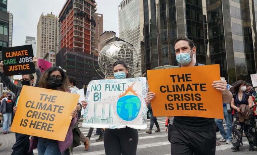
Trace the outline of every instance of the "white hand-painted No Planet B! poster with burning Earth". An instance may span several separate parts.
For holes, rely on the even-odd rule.
[[[84,127],[146,129],[146,78],[93,80],[89,83]]]

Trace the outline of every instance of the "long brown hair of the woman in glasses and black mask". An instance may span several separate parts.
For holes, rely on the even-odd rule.
[[[58,90],[58,91],[69,91],[69,79],[67,74],[60,68],[58,67],[51,67],[49,69],[47,69],[42,76],[39,79],[39,87],[40,88],[46,88],[46,89],[50,89],[50,82],[48,82],[48,77],[49,75],[54,72],[54,71],[59,71],[62,75],[62,85],[59,87],[56,87],[54,90]]]

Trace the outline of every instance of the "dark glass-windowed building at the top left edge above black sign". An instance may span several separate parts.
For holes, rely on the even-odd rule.
[[[2,48],[8,47],[9,14],[7,13],[7,0],[0,1],[0,60],[2,60]]]

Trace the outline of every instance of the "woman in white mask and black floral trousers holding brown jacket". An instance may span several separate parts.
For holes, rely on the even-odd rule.
[[[252,94],[246,91],[245,84],[245,81],[239,80],[236,82],[236,85],[231,88],[233,92],[231,107],[235,109],[232,126],[233,147],[231,149],[236,151],[240,151],[239,147],[243,145],[243,129],[249,142],[249,151],[254,151],[254,146],[256,146],[256,133],[254,130],[254,120],[252,119],[253,98]]]

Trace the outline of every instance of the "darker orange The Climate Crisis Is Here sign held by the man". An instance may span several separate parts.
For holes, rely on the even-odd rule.
[[[155,116],[196,116],[223,119],[219,64],[147,71]]]

